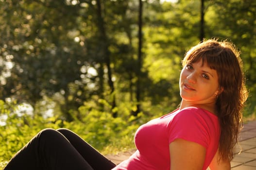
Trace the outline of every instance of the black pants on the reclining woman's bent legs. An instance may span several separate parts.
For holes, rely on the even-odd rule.
[[[4,170],[111,170],[115,166],[72,131],[44,129]]]

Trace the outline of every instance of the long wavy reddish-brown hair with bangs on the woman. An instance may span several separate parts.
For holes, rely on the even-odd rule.
[[[200,59],[203,64],[206,63],[217,71],[218,82],[223,89],[216,100],[221,126],[219,158],[232,160],[238,134],[242,128],[242,109],[248,97],[240,51],[227,40],[204,40],[186,53],[182,65],[184,67]]]

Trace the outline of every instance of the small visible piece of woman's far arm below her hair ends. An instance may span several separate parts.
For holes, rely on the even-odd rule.
[[[210,163],[210,170],[230,170],[230,160],[218,160],[219,158],[219,151],[216,152],[215,156],[213,157]]]

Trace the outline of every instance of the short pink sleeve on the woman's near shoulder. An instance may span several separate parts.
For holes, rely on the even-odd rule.
[[[168,124],[169,143],[180,138],[207,148],[209,129],[202,114],[205,112],[199,108],[185,108],[176,114]]]

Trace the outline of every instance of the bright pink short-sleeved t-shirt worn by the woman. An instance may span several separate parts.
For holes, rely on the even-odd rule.
[[[135,134],[137,151],[113,170],[170,170],[169,144],[177,138],[206,148],[205,170],[219,145],[218,117],[205,109],[187,107],[143,124]]]

